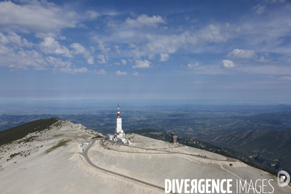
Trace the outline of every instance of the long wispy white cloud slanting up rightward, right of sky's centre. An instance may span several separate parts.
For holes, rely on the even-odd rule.
[[[131,50],[134,59],[140,59],[146,55],[149,59],[153,59],[156,54],[167,53],[171,55],[179,49],[188,50],[192,48],[194,52],[201,52],[198,49],[199,47],[208,43],[226,42],[234,33],[237,33],[234,31],[236,30],[232,26],[226,28],[225,26],[210,24],[200,30],[185,31],[179,34],[145,33],[141,35],[146,40],[146,48],[144,45],[143,47],[137,47],[132,43],[129,44],[129,48],[134,48]],[[134,38],[139,39],[137,36],[134,36]]]

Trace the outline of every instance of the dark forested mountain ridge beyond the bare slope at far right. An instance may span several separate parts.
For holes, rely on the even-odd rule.
[[[291,172],[291,131],[234,131],[212,136],[207,142],[231,148],[268,168]]]

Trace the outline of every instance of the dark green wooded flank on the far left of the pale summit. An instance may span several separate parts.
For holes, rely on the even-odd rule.
[[[2,130],[0,131],[0,146],[22,139],[29,133],[49,129],[49,127],[57,121],[59,121],[58,118],[52,117],[50,119],[40,119],[14,128]]]

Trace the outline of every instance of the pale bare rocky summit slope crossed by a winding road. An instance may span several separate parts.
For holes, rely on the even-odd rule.
[[[105,140],[102,145],[100,136],[102,134],[91,129],[83,126],[79,129],[77,124],[58,120],[47,129],[0,146],[0,193],[164,193],[134,178],[159,187],[164,187],[165,179],[230,178],[233,193],[236,193],[237,179],[274,179],[275,194],[291,193],[289,186],[278,187],[274,175],[206,150],[172,145],[137,134],[126,137],[132,139],[132,146]],[[26,141],[28,139],[30,141]],[[82,147],[84,141],[90,147]],[[101,170],[80,154],[83,148],[89,160]],[[265,186],[264,192],[272,192],[272,187]]]

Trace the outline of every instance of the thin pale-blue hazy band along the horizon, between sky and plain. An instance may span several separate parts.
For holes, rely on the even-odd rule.
[[[222,105],[222,106],[276,106],[291,105],[291,101],[251,101],[251,100],[216,100],[216,99],[5,99],[4,106],[105,106],[105,105],[146,105],[146,106],[180,106],[180,105]]]

